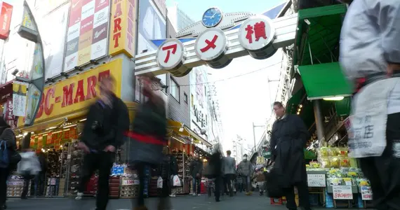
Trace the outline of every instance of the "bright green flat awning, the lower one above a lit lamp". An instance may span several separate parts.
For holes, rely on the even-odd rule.
[[[352,95],[352,87],[338,62],[298,66],[298,71],[309,100]]]

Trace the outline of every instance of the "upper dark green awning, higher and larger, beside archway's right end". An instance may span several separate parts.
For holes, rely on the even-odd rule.
[[[340,30],[346,11],[345,4],[298,11],[294,65],[338,62]]]

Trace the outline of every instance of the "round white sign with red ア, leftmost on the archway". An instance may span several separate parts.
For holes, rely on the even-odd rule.
[[[178,39],[164,41],[157,51],[157,63],[166,70],[175,69],[185,61],[185,48]]]

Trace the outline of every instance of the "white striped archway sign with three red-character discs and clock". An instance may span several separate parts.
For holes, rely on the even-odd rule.
[[[218,8],[206,10],[201,21],[182,29],[158,50],[135,57],[135,75],[171,73],[185,76],[192,68],[207,64],[214,69],[227,66],[232,59],[250,55],[267,59],[278,48],[294,43],[298,15],[270,20],[251,13],[223,14]],[[237,29],[232,29],[241,25]]]

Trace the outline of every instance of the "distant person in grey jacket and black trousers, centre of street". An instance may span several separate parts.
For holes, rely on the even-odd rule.
[[[234,177],[236,174],[236,161],[231,157],[231,151],[227,151],[227,157],[222,158],[223,165],[222,169],[224,172],[224,191],[225,193],[229,193],[229,196],[232,197],[234,195],[234,190],[232,188],[234,183]],[[227,194],[228,195],[228,194]]]

